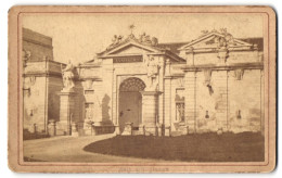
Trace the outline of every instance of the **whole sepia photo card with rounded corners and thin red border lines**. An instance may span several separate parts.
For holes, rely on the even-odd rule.
[[[9,167],[269,173],[270,7],[13,7]]]

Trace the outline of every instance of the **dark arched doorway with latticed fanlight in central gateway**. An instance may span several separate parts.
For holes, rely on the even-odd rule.
[[[138,128],[142,123],[142,96],[140,91],[145,89],[145,84],[137,77],[124,80],[119,86],[118,125],[120,132],[126,123],[132,123]]]

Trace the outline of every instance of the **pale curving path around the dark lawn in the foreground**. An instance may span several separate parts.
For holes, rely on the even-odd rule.
[[[62,136],[24,141],[24,156],[30,160],[47,162],[92,162],[92,163],[153,163],[157,160],[123,157],[89,153],[84,151],[84,147],[94,141],[115,137],[114,134],[88,137]],[[164,161],[162,161],[164,162]]]

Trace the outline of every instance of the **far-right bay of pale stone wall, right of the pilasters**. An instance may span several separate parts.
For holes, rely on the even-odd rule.
[[[262,80],[260,69],[244,71],[243,79],[238,80],[229,77],[229,113],[228,120],[230,130],[239,131],[260,131],[262,114]],[[239,116],[239,111],[240,115]]]

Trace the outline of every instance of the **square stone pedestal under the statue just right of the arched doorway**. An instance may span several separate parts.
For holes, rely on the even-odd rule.
[[[142,91],[142,126],[145,135],[157,135],[158,96],[159,91]]]

